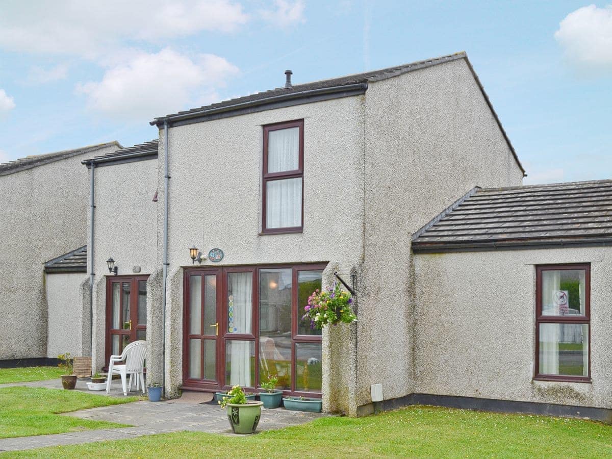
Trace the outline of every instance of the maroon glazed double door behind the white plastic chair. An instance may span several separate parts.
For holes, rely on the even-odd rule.
[[[106,362],[147,338],[147,277],[106,278]]]

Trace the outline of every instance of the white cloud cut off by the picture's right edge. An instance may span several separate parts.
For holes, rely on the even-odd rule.
[[[612,5],[589,5],[569,13],[554,38],[579,67],[612,68]]]

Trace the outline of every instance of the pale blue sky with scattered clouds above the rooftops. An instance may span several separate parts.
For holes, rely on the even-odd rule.
[[[608,0],[610,1],[610,0]],[[466,51],[525,184],[612,178],[612,4],[2,0],[0,163],[156,116]]]

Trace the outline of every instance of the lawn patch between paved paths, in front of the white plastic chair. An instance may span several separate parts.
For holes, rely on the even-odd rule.
[[[112,422],[59,416],[58,413],[136,400],[138,397],[104,397],[77,390],[3,387],[0,389],[0,438],[125,427]]]

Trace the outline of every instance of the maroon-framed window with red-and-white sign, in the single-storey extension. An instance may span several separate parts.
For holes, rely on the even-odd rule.
[[[591,381],[591,266],[537,267],[535,379]]]

